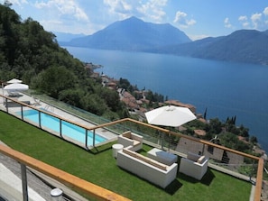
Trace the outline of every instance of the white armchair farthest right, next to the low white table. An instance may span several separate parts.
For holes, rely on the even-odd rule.
[[[179,171],[189,177],[201,180],[208,170],[208,158],[188,152],[187,158],[180,159]]]

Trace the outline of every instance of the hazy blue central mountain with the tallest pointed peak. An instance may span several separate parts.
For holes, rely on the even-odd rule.
[[[60,45],[107,50],[147,50],[189,42],[189,37],[169,23],[145,23],[136,17],[117,21],[86,37]]]

